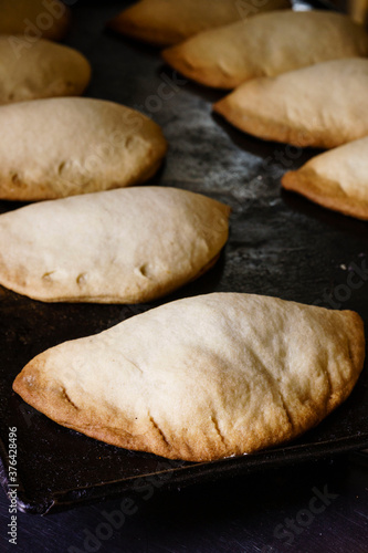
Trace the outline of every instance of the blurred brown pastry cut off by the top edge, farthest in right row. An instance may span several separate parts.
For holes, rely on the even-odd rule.
[[[168,46],[206,29],[256,13],[290,8],[288,0],[140,0],[116,15],[108,27],[126,36]]]

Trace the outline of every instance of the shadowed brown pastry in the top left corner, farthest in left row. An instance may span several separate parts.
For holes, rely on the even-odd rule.
[[[0,0],[0,33],[22,34],[29,48],[38,39],[62,40],[71,22],[71,10],[61,0]]]

